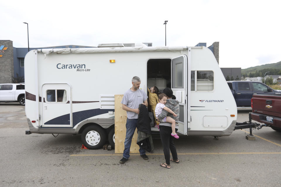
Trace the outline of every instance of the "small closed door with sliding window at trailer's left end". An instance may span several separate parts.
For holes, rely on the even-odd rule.
[[[42,86],[43,127],[72,127],[71,87],[68,84]]]

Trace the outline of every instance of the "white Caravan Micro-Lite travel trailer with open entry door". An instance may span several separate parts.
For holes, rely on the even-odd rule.
[[[87,148],[101,148],[107,140],[114,146],[114,95],[130,89],[134,76],[144,91],[172,88],[180,104],[179,133],[232,133],[236,103],[208,48],[106,46],[28,52],[26,134],[82,134]]]

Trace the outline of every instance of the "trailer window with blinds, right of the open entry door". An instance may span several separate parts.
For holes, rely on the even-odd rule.
[[[213,89],[213,71],[191,71],[191,91],[212,91]]]

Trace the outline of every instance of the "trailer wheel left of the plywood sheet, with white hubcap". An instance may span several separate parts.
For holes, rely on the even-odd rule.
[[[106,134],[101,127],[91,125],[83,130],[81,140],[88,149],[100,149],[105,144]]]

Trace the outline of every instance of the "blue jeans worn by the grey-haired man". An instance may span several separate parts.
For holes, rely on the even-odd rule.
[[[130,157],[130,147],[132,143],[132,138],[135,133],[137,127],[138,119],[128,119],[126,122],[126,138],[124,142],[124,152],[123,157],[128,159]],[[145,150],[143,148],[139,149],[140,155],[145,154]]]

